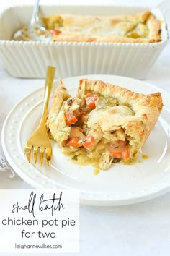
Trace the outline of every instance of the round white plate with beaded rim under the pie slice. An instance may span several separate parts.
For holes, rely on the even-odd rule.
[[[82,76],[104,80],[139,93],[160,91],[146,82],[128,77],[109,75]],[[76,95],[79,79],[64,80],[71,95]],[[169,95],[161,91],[164,104]],[[79,189],[81,202],[89,205],[127,205],[157,197],[170,188],[170,111],[164,107],[161,116],[143,146],[138,161],[126,166],[115,164],[108,171],[94,175],[92,166],[77,166],[64,156],[53,142],[53,161],[50,167],[27,162],[23,148],[37,127],[42,111],[43,88],[28,95],[6,118],[2,130],[2,145],[14,171],[35,188]],[[143,159],[142,154],[148,155]]]

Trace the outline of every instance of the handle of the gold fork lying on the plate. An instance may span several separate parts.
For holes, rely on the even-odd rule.
[[[50,93],[53,87],[53,80],[55,77],[55,67],[48,67],[46,80],[45,80],[45,93],[44,93],[44,103],[42,108],[42,117],[40,121],[40,125],[44,125],[47,121],[48,116],[48,103],[50,100]]]

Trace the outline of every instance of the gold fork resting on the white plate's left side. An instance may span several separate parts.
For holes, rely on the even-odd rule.
[[[37,129],[35,130],[35,132],[33,132],[24,148],[24,154],[27,156],[29,163],[31,158],[31,152],[33,152],[35,163],[37,163],[37,154],[39,153],[40,163],[43,163],[43,158],[45,156],[48,165],[50,164],[52,149],[50,145],[50,139],[48,137],[46,120],[48,115],[48,103],[50,99],[50,92],[53,87],[54,76],[55,67],[48,67],[45,80],[44,103],[42,108],[40,124],[39,127],[37,127]]]

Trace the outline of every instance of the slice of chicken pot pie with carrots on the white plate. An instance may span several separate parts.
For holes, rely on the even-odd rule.
[[[112,163],[130,163],[138,156],[162,107],[161,93],[144,95],[82,79],[76,97],[71,97],[61,81],[48,127],[63,153],[86,155],[106,170]]]

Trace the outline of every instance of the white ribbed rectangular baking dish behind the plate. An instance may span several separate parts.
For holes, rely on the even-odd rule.
[[[116,6],[41,6],[40,15],[89,14],[115,15],[143,12],[143,7]],[[151,12],[162,22],[158,43],[45,43],[11,41],[12,34],[27,25],[31,6],[10,7],[0,17],[0,57],[9,74],[14,77],[45,77],[46,67],[57,67],[56,77],[82,74],[117,74],[145,78],[153,62],[166,46],[168,34],[161,12]]]

